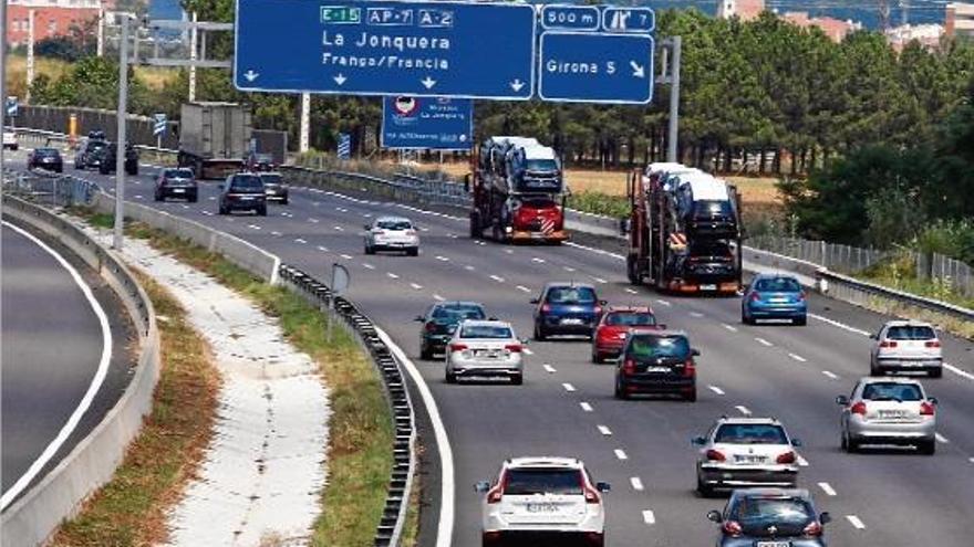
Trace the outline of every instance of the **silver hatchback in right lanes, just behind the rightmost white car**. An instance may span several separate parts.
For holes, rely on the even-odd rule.
[[[936,399],[912,378],[862,378],[842,406],[841,444],[857,452],[863,444],[912,444],[923,454],[936,451]]]

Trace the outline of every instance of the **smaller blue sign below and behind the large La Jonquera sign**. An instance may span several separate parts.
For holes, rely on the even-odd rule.
[[[385,97],[382,102],[383,148],[469,150],[474,102],[446,97]]]

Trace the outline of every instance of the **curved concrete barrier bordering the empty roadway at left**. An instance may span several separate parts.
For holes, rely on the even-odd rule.
[[[139,339],[135,375],[115,406],[56,467],[0,517],[0,543],[4,547],[34,547],[42,545],[89,495],[112,478],[128,443],[142,429],[143,417],[152,411],[153,391],[159,378],[159,335],[152,302],[114,254],[69,220],[25,201],[6,197],[3,214],[46,233],[97,271],[124,303]]]

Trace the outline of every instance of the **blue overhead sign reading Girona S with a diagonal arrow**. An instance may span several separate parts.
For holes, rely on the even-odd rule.
[[[653,98],[653,38],[545,32],[538,95],[552,102],[649,103]]]

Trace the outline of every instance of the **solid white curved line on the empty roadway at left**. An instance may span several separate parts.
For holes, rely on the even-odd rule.
[[[81,401],[79,401],[77,407],[71,412],[71,415],[68,418],[68,421],[64,422],[64,425],[61,427],[61,430],[58,431],[58,435],[48,443],[44,448],[44,451],[41,452],[41,455],[34,460],[23,475],[17,480],[7,492],[0,496],[0,509],[6,509],[7,506],[17,498],[24,488],[30,485],[31,482],[38,476],[38,473],[44,469],[44,466],[54,457],[54,454],[61,450],[62,445],[68,441],[71,434],[74,432],[74,429],[81,422],[82,417],[87,409],[91,407],[92,401],[97,395],[99,390],[102,388],[102,383],[105,381],[105,377],[108,374],[108,366],[112,361],[112,327],[108,325],[108,317],[105,315],[105,311],[102,308],[102,305],[99,303],[97,298],[95,298],[94,294],[91,291],[91,287],[85,284],[84,278],[77,273],[77,270],[71,265],[63,256],[58,254],[50,245],[44,243],[43,241],[35,238],[33,234],[25,232],[24,230],[9,223],[3,222],[6,228],[9,228],[17,233],[23,235],[24,238],[31,240],[34,244],[43,249],[48,254],[54,257],[61,267],[68,271],[71,278],[74,280],[74,283],[81,290],[82,294],[84,294],[85,299],[87,299],[89,305],[94,312],[95,316],[99,319],[99,326],[102,328],[102,355],[99,358],[99,368],[95,370],[95,375],[92,377],[91,383],[87,386],[87,390],[82,396]]]

